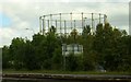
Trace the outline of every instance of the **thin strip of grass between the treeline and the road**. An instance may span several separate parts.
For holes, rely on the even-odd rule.
[[[5,69],[2,70],[2,73],[49,73],[49,74],[124,74],[131,75],[131,72],[118,72],[118,71],[107,71],[107,72],[98,72],[98,71],[58,71],[58,70],[13,70],[13,69]]]

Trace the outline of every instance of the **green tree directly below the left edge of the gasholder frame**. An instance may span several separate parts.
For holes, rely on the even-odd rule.
[[[40,34],[35,34],[33,36],[33,40],[31,42],[33,45],[34,54],[37,59],[37,66],[40,69],[44,69],[44,61],[47,59],[47,42],[46,42],[46,36],[40,35]]]

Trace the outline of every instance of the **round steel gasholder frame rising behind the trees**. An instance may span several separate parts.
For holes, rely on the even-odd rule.
[[[70,34],[72,30],[82,33],[84,26],[90,25],[92,33],[98,23],[105,24],[107,15],[102,13],[58,13],[39,17],[39,33],[45,34],[55,26],[58,34]]]

